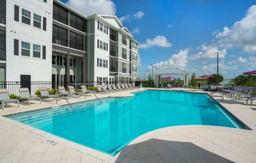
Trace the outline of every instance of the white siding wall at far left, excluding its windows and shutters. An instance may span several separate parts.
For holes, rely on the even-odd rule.
[[[14,21],[14,5],[19,6],[19,22]],[[20,81],[20,74],[31,75],[31,81],[51,81],[52,5],[52,0],[7,0],[6,81]],[[31,25],[21,22],[22,8],[31,12]],[[41,29],[33,27],[33,13],[42,16]],[[47,18],[46,31],[43,17]],[[19,40],[19,56],[14,55],[14,39]],[[21,41],[30,43],[30,57],[21,56]],[[33,57],[33,43],[41,45],[41,58]],[[42,59],[42,45],[46,46],[46,60]]]

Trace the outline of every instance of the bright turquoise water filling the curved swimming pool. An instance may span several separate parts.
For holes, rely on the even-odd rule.
[[[106,98],[9,118],[115,155],[146,132],[176,125],[245,126],[206,94],[142,91],[132,98]]]

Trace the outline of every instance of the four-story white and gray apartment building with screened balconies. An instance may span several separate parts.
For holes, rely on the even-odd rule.
[[[7,2],[0,0],[0,82],[137,80],[139,42],[116,16],[85,16],[59,0]]]

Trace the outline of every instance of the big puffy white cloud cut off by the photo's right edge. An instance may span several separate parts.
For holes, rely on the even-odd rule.
[[[256,55],[256,5],[252,5],[246,16],[230,28],[225,26],[216,38],[222,47],[242,47],[243,51]]]

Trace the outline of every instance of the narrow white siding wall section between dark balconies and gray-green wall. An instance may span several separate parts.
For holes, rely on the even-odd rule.
[[[100,21],[101,22],[101,21]],[[97,40],[101,40],[103,42],[108,43],[108,51],[104,51],[102,49],[97,48]],[[98,30],[98,20],[95,19],[95,42],[94,42],[94,81],[97,81],[97,76],[99,77],[108,77],[109,79],[109,27],[108,34],[103,33]],[[97,58],[101,58],[102,60],[108,60],[108,68],[97,67]]]

